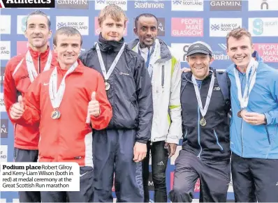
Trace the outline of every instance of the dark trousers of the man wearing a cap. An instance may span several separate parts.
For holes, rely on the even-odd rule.
[[[201,161],[193,153],[181,150],[175,160],[171,202],[192,202],[193,190],[200,179],[199,202],[226,202],[231,181],[231,165],[228,160]]]

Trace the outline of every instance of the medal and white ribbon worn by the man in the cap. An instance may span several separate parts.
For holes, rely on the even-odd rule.
[[[209,87],[209,90],[207,92],[207,98],[205,100],[205,107],[203,107],[203,103],[202,103],[202,99],[200,98],[200,91],[199,91],[199,88],[198,88],[198,84],[196,82],[196,78],[195,78],[194,75],[192,75],[192,82],[193,82],[193,85],[194,85],[194,90],[195,90],[195,93],[196,93],[196,98],[197,98],[197,101],[198,101],[200,114],[202,114],[202,117],[203,117],[199,121],[200,126],[207,125],[207,121],[205,120],[205,114],[207,114],[207,110],[208,110],[208,107],[210,105],[210,98],[212,98],[212,89],[213,89],[213,85],[214,85],[214,80],[215,80],[215,76],[214,76],[214,73],[212,73],[212,78],[210,80],[210,87]]]

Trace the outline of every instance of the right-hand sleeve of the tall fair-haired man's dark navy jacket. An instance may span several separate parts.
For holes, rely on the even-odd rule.
[[[144,59],[138,55],[134,78],[138,102],[139,121],[136,142],[147,143],[151,138],[152,117],[154,114],[152,100],[152,82],[145,67]]]

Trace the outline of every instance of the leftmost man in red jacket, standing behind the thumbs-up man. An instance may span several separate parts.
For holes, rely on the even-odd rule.
[[[3,82],[3,98],[6,111],[17,101],[17,96],[27,91],[31,82],[43,71],[49,70],[56,63],[47,40],[51,37],[50,20],[41,11],[30,13],[26,21],[25,37],[28,39],[28,51],[17,55],[8,61]],[[21,126],[15,123],[15,162],[37,162],[38,160],[38,123],[31,126]],[[19,192],[20,202],[41,202],[40,192]]]

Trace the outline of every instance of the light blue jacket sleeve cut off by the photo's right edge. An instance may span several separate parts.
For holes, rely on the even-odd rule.
[[[277,70],[275,70],[277,71]],[[275,102],[278,104],[278,81],[275,78],[278,77],[278,74],[275,73],[272,75],[272,84],[270,86],[270,95],[274,98]],[[265,112],[265,118],[267,120],[266,125],[276,125],[278,123],[278,106],[269,112]]]

